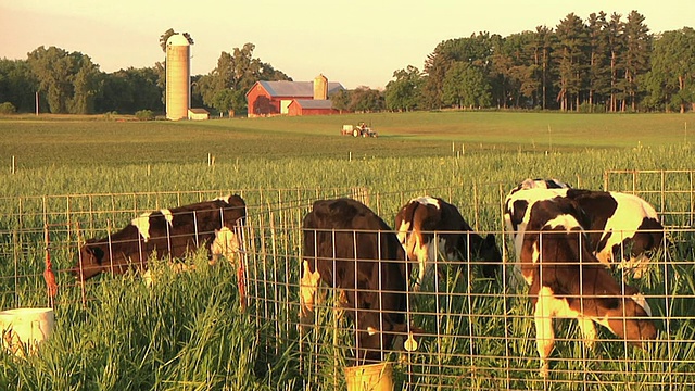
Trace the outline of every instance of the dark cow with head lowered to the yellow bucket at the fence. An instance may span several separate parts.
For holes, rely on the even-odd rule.
[[[341,291],[356,328],[356,358],[378,362],[394,337],[407,335],[406,261],[391,228],[348,198],[319,200],[304,217],[300,320],[313,321],[320,281]]]

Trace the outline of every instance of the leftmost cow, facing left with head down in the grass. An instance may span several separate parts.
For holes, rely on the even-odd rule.
[[[144,270],[155,252],[160,257],[181,257],[208,244],[212,263],[219,255],[231,260],[245,216],[239,195],[143,213],[115,234],[88,240],[71,272],[84,281],[102,272]]]

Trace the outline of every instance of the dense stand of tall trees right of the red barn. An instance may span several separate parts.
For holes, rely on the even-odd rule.
[[[388,110],[693,111],[695,31],[650,34],[637,11],[570,13],[555,29],[442,41],[421,72],[410,65],[393,77]]]

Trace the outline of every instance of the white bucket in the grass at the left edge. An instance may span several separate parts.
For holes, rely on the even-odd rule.
[[[14,308],[0,312],[2,345],[24,355],[33,352],[53,331],[53,308]]]

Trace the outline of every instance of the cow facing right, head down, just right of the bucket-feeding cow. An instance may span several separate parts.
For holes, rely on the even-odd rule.
[[[502,254],[494,235],[482,238],[476,234],[458,209],[441,198],[420,197],[408,201],[396,214],[395,226],[408,260],[419,265],[416,291],[421,288],[438,252],[445,261],[488,262],[482,267],[488,278],[494,277],[501,265]]]

